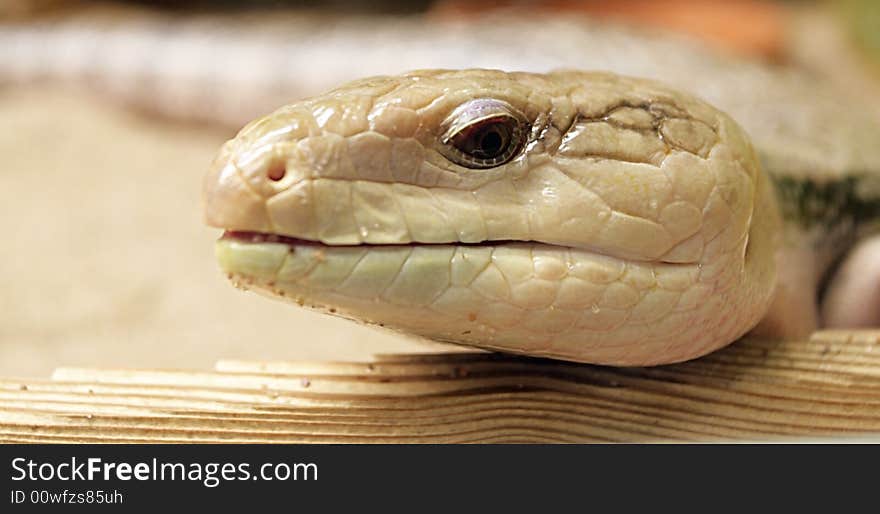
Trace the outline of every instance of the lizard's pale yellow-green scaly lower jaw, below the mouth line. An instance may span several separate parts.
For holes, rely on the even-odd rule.
[[[761,307],[731,305],[736,280],[718,275],[731,266],[540,243],[331,246],[231,232],[216,253],[236,285],[276,299],[433,340],[582,362],[697,357],[742,334]]]

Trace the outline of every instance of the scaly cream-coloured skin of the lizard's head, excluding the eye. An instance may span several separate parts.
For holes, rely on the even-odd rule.
[[[444,120],[477,98],[530,125],[495,168],[439,151]],[[237,283],[435,340],[581,362],[715,350],[764,315],[776,276],[774,198],[743,131],[691,96],[607,73],[353,82],[245,127],[205,202],[209,224],[235,231],[217,254]]]

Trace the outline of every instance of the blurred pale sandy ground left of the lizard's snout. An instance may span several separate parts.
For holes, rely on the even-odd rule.
[[[440,348],[226,281],[200,186],[232,135],[72,90],[0,89],[0,376]]]

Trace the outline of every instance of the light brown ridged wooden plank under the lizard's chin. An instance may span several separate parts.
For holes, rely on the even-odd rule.
[[[221,361],[213,372],[58,369],[0,381],[3,442],[877,440],[880,331],[745,339],[611,368],[492,353]]]

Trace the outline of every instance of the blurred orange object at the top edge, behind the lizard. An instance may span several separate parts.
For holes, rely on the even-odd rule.
[[[432,14],[461,19],[493,10],[583,13],[699,37],[734,52],[779,59],[788,15],[777,2],[759,0],[440,0]]]

